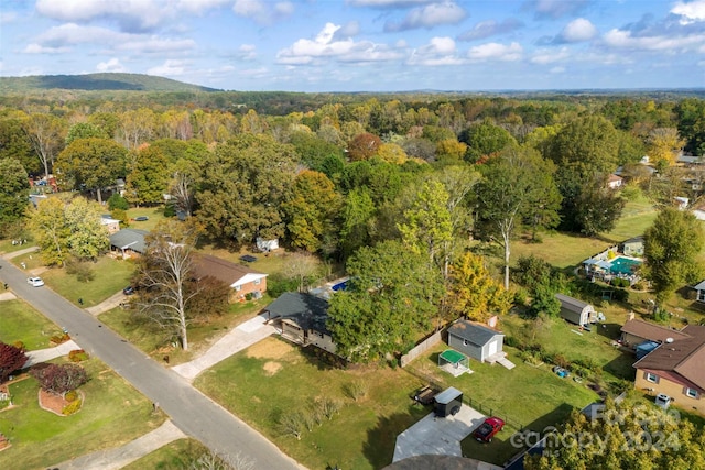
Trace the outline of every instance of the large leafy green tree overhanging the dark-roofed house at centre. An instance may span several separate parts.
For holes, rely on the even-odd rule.
[[[346,267],[350,285],[328,308],[338,353],[352,362],[383,360],[406,352],[431,329],[443,281],[426,255],[389,240],[361,248]]]

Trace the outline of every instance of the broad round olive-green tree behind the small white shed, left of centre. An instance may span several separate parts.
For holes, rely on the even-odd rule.
[[[208,233],[237,244],[283,237],[281,205],[296,175],[291,145],[265,134],[241,134],[219,144],[203,163],[196,217]]]

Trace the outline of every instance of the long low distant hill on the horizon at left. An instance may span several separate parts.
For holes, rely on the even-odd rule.
[[[122,91],[220,91],[143,74],[35,75],[0,77],[0,94],[52,89]]]

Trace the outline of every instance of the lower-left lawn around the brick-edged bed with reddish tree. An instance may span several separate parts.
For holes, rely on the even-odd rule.
[[[95,450],[121,446],[156,428],[164,416],[152,404],[97,359],[82,365],[89,382],[80,387],[84,407],[72,416],[56,416],[40,408],[39,385],[28,378],[10,385],[14,407],[0,413],[0,433],[12,447],[0,452],[0,468],[39,469]]]

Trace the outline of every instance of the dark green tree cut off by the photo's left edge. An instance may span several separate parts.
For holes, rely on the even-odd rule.
[[[0,159],[0,233],[22,219],[29,194],[29,176],[20,161]]]

